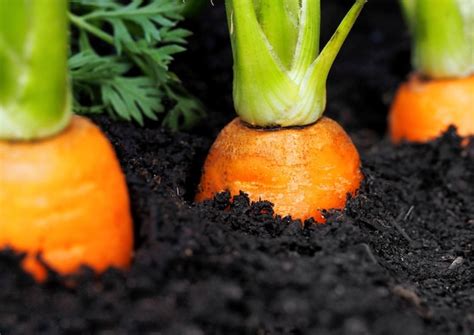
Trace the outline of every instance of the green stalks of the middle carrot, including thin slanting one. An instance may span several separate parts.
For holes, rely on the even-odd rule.
[[[326,107],[326,79],[366,0],[356,0],[319,52],[320,0],[226,0],[234,104],[258,126],[303,126]]]

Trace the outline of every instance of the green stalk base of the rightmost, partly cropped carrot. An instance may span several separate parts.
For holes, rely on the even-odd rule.
[[[472,0],[401,0],[413,39],[414,68],[431,78],[474,73]]]

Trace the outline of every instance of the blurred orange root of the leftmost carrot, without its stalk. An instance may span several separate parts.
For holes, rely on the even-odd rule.
[[[41,141],[0,141],[0,248],[26,252],[23,267],[40,281],[86,264],[126,268],[133,227],[125,178],[112,146],[90,121],[74,117]]]

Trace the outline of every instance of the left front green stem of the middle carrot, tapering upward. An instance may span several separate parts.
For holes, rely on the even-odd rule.
[[[253,0],[226,0],[226,6],[234,53],[237,113],[251,124],[272,124],[291,108],[297,87],[265,37]]]

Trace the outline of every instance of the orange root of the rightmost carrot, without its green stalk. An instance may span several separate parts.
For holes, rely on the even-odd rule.
[[[425,142],[454,125],[461,136],[474,135],[474,76],[403,84],[389,114],[390,137]]]

